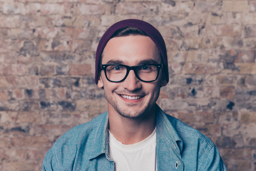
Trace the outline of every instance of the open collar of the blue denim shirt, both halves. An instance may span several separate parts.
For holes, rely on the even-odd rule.
[[[105,130],[105,131],[102,131]],[[160,143],[160,139],[165,145],[168,145],[176,155],[180,156],[182,153],[183,143],[179,135],[177,134],[174,126],[169,122],[165,113],[156,104],[156,131],[157,131],[157,143]],[[161,150],[161,148],[159,148]],[[101,154],[105,154],[106,159],[113,160],[109,156],[109,115],[105,112],[101,115],[100,123],[97,126],[97,131],[94,137],[94,145],[90,153],[89,159],[98,157]]]

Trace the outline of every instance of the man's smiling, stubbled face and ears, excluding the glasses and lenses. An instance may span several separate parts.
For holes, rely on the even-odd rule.
[[[104,48],[101,63],[136,66],[162,62],[158,48],[150,37],[131,35],[110,39]],[[166,85],[162,69],[154,82],[140,81],[133,70],[122,82],[108,81],[103,70],[100,75],[98,87],[104,87],[109,113],[117,112],[128,118],[138,118],[148,112],[158,99],[160,87]],[[129,99],[129,96],[135,96],[135,99]]]

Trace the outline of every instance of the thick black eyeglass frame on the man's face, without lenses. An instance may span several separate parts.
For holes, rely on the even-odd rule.
[[[131,70],[134,71],[136,77],[137,77],[140,81],[142,81],[142,82],[153,82],[153,81],[157,80],[157,78],[158,78],[158,76],[159,76],[159,71],[160,71],[160,69],[163,68],[163,64],[164,64],[164,63],[162,63],[162,64],[158,64],[158,63],[144,63],[144,64],[140,64],[140,65],[137,65],[137,66],[132,66],[132,67],[131,67],[131,66],[125,66],[125,65],[122,65],[122,64],[101,64],[101,65],[100,65],[100,69],[101,69],[101,70],[104,70],[104,73],[105,73],[105,76],[106,76],[106,67],[108,67],[108,66],[122,66],[122,67],[125,67],[125,68],[126,68],[126,75],[125,75],[124,78],[123,78],[122,80],[120,80],[120,81],[111,81],[111,80],[108,78],[108,76],[106,76],[106,79],[107,79],[108,81],[110,81],[110,82],[122,82],[123,80],[125,80],[125,79],[127,78],[127,76],[129,75],[129,72],[130,72]],[[144,81],[144,80],[140,79],[140,77],[139,77],[138,74],[137,74],[137,68],[139,68],[139,67],[141,67],[141,66],[156,66],[156,67],[157,67],[157,77],[156,77],[156,79],[151,80],[151,81]]]

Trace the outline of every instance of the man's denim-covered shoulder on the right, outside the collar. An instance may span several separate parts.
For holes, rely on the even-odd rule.
[[[208,137],[179,119],[165,113],[164,115],[182,140],[185,166],[196,167],[198,170],[226,170],[217,147]]]

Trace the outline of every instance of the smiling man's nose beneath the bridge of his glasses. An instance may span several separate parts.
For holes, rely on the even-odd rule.
[[[123,81],[123,87],[129,91],[135,91],[141,88],[141,82],[133,70],[130,70],[128,76]]]

